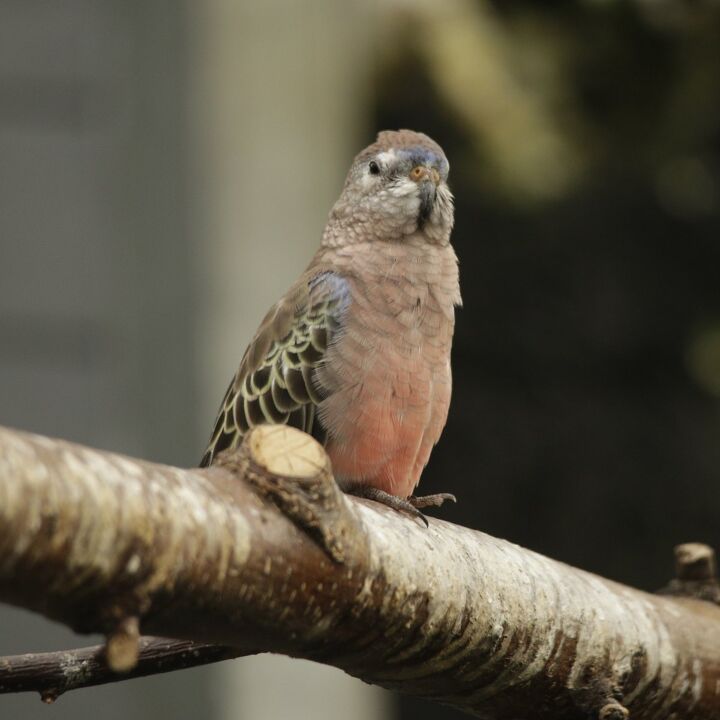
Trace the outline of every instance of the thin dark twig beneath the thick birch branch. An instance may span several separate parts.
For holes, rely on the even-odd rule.
[[[43,702],[51,703],[67,690],[184,670],[248,654],[222,645],[142,637],[137,663],[123,674],[108,666],[104,645],[8,655],[0,657],[0,694],[38,692]]]

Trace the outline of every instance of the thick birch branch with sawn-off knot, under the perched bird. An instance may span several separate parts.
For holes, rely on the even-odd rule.
[[[204,471],[0,431],[0,600],[105,632],[118,667],[139,619],[479,717],[720,717],[720,608],[347,498],[289,428]]]

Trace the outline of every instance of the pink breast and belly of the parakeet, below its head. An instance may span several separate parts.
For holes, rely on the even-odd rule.
[[[328,454],[338,478],[407,497],[447,418],[457,260],[423,237],[335,260],[352,303],[318,372]]]

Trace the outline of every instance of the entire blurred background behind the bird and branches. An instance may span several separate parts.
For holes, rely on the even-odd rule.
[[[653,590],[720,546],[711,0],[0,0],[0,422],[195,464],[383,128],[445,148],[464,308],[422,489]],[[87,644],[0,608],[0,655]],[[450,720],[249,658],[0,716]]]

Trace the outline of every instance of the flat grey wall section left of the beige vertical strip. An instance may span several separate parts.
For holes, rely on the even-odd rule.
[[[188,464],[199,447],[174,7],[0,3],[0,422]],[[0,609],[0,654],[89,640]],[[50,708],[4,696],[0,717],[197,717],[206,677]]]

